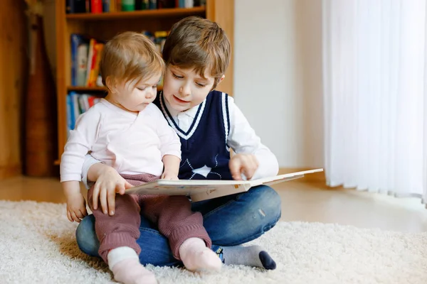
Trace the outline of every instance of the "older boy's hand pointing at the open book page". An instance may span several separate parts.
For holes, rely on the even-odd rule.
[[[258,169],[258,160],[252,154],[236,154],[231,157],[228,167],[234,180],[242,180],[242,174],[251,180]]]

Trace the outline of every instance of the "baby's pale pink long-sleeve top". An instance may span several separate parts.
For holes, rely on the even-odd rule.
[[[105,99],[80,115],[65,144],[60,181],[81,180],[85,155],[118,173],[162,175],[164,155],[181,158],[181,143],[162,112],[149,104],[132,114]]]

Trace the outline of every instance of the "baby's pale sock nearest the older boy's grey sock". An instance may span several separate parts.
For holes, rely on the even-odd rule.
[[[179,246],[179,257],[189,271],[219,271],[222,266],[221,259],[199,238],[186,239]]]

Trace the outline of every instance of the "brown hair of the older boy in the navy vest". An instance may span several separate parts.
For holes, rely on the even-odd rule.
[[[213,89],[226,72],[230,57],[231,45],[223,29],[217,23],[197,16],[175,23],[163,48],[167,65],[194,69],[201,77],[208,68],[215,78]]]

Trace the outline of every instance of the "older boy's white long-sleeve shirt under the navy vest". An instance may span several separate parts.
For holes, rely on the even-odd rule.
[[[192,107],[187,111],[176,111],[168,104],[166,107],[169,114],[172,115],[175,123],[183,131],[188,131],[193,123],[197,109],[199,106]],[[230,146],[235,153],[253,154],[258,160],[259,166],[252,177],[252,180],[258,178],[267,178],[278,174],[279,166],[278,160],[270,149],[263,145],[260,137],[256,135],[255,131],[249,124],[242,111],[234,103],[234,99],[228,96],[228,111],[230,115],[230,132],[228,133],[228,146]],[[203,127],[199,125],[199,127]],[[91,165],[99,163],[99,160],[94,159],[90,155],[86,157],[85,164],[83,165],[83,182],[88,187],[88,170]]]

